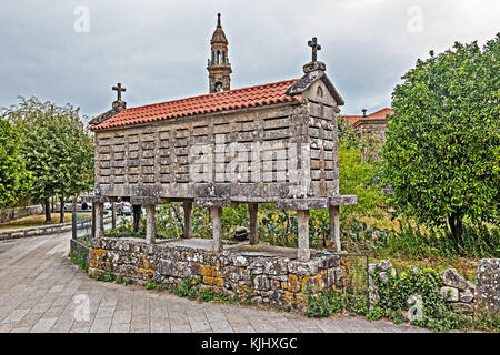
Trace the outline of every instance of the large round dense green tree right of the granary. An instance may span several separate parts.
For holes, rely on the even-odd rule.
[[[382,148],[391,202],[420,222],[448,224],[456,241],[466,216],[498,220],[499,39],[431,52],[392,93]]]

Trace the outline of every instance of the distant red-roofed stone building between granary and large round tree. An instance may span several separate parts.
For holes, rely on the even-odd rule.
[[[378,152],[386,141],[386,131],[388,118],[394,112],[390,108],[379,110],[367,115],[367,110],[362,110],[362,115],[344,115],[343,119],[349,122],[358,132],[361,140],[366,140],[369,148],[372,149],[378,158]]]

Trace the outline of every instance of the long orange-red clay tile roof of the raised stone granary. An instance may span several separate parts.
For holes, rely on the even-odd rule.
[[[301,98],[287,95],[284,92],[298,79],[279,81],[256,87],[209,93],[199,97],[154,103],[124,109],[120,113],[90,128],[92,131],[124,126],[138,123],[161,121],[233,109],[261,106],[267,104],[291,102]]]

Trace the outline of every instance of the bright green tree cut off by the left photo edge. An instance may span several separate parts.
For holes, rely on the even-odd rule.
[[[12,125],[0,119],[0,207],[8,207],[29,190],[31,176],[20,156],[21,141]]]

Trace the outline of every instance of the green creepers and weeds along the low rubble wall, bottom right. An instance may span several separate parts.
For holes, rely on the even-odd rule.
[[[456,310],[452,303],[447,302],[439,292],[442,286],[441,280],[431,268],[413,270],[413,267],[408,267],[396,277],[389,274],[386,282],[380,278],[380,271],[377,271],[372,281],[378,287],[380,301],[370,305],[368,312],[366,297],[330,290],[308,295],[307,316],[328,317],[339,312],[348,312],[364,315],[369,321],[387,318],[400,324],[407,322],[403,314],[414,305],[414,303],[409,303],[410,297],[418,295],[422,301],[422,313],[421,317],[410,322],[413,325],[434,332],[450,329],[498,332],[500,329],[499,313],[478,308],[473,317],[468,317]]]

